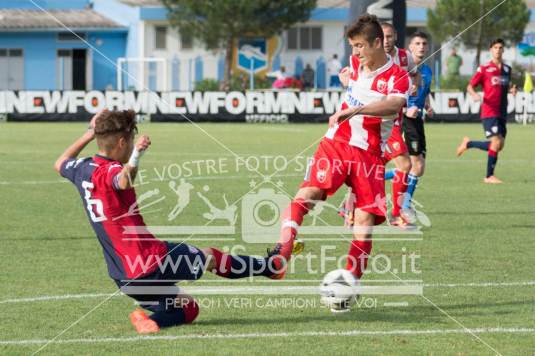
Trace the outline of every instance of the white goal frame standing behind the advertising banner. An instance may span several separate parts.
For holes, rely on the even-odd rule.
[[[120,57],[117,59],[117,90],[167,91],[167,59]]]

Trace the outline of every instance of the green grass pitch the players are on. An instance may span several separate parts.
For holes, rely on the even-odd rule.
[[[100,304],[106,297],[46,300],[32,302],[3,302],[8,299],[57,296],[82,293],[113,293],[116,288],[108,278],[102,251],[87,221],[80,197],[70,184],[62,182],[52,170],[56,157],[77,138],[85,124],[14,124],[0,125],[0,352],[27,354],[42,344],[3,345],[5,340],[48,340]],[[323,125],[201,125],[233,152],[243,156],[294,157],[324,133]],[[420,254],[421,275],[426,284],[526,282],[535,280],[535,157],[532,142],[535,127],[511,124],[508,127],[505,151],[500,153],[496,175],[505,181],[500,186],[482,183],[486,155],[470,150],[462,158],[455,157],[455,148],[463,135],[482,138],[477,124],[428,125],[428,162],[416,200],[432,226],[424,228],[423,241],[376,241],[372,254],[385,254],[399,264],[402,248]],[[141,160],[145,171],[138,196],[158,188],[166,196],[145,214],[149,225],[204,225],[202,214],[208,211],[196,192],[222,207],[222,194],[229,203],[247,193],[250,181],[260,187],[262,178],[255,172],[235,167],[232,154],[192,125],[142,124],[140,132],[151,136],[153,145]],[[311,155],[313,144],[303,155]],[[91,144],[84,151],[92,154]],[[82,154],[83,156],[84,154]],[[196,160],[227,162],[225,172],[213,171],[207,176],[205,168],[194,179],[187,178],[195,188],[191,204],[181,215],[169,222],[167,214],[176,203],[176,196],[168,187],[169,175],[159,181],[163,167]],[[253,161],[250,161],[253,162]],[[294,194],[304,174],[301,163],[292,163],[280,173],[282,189]],[[191,163],[195,171],[196,163]],[[204,166],[203,166],[204,167]],[[154,171],[156,169],[156,171]],[[170,170],[176,176],[177,170]],[[259,167],[261,173],[274,171],[273,162]],[[156,173],[158,172],[158,173]],[[184,172],[183,172],[184,173]],[[175,179],[176,180],[176,179]],[[178,180],[176,180],[178,182]],[[263,187],[273,187],[269,185]],[[204,189],[208,186],[209,189]],[[258,190],[258,189],[257,189]],[[345,192],[345,189],[342,189]],[[390,184],[387,184],[387,191]],[[341,193],[343,193],[341,192]],[[338,205],[342,194],[330,199]],[[240,213],[241,201],[237,203]],[[324,220],[318,224],[340,225],[334,211],[324,210]],[[309,224],[307,217],[305,224]],[[220,225],[228,222],[217,221]],[[246,253],[264,254],[269,244],[245,244],[240,233],[240,219],[233,241],[191,241],[199,247],[220,248],[243,245]],[[391,235],[390,235],[391,236]],[[178,236],[174,236],[175,238]],[[194,236],[199,238],[200,236]],[[202,236],[229,237],[229,236]],[[337,236],[333,236],[337,237]],[[388,238],[389,235],[378,236]],[[163,237],[165,238],[165,237]],[[304,237],[306,241],[306,237]],[[319,254],[322,244],[334,246],[334,255],[347,253],[348,242],[308,241],[305,254]],[[243,253],[243,251],[238,251]],[[332,252],[332,251],[331,251]],[[317,285],[323,274],[310,275],[305,262],[296,263],[295,273],[286,282],[275,285]],[[319,268],[319,262],[313,264]],[[329,261],[326,271],[335,268]],[[217,278],[205,275],[210,280]],[[401,276],[407,278],[407,276]],[[366,275],[364,281],[395,279],[392,274]],[[291,280],[312,280],[311,283]],[[272,286],[273,282],[255,279],[223,283],[245,287]],[[476,328],[535,328],[535,285],[524,286],[429,286],[424,296],[463,326]],[[464,334],[428,335],[306,335],[308,332],[348,332],[392,330],[449,330],[462,329],[452,319],[421,296],[372,296],[374,307],[355,308],[344,315],[332,315],[319,306],[319,296],[304,295],[308,308],[281,308],[276,296],[220,295],[199,296],[205,306],[197,321],[190,326],[170,328],[162,336],[205,335],[209,338],[169,340],[123,340],[102,342],[104,338],[137,337],[128,321],[133,309],[132,300],[119,296],[104,302],[85,319],[74,325],[58,339],[95,339],[101,342],[50,344],[46,354],[131,354],[134,352],[169,353],[359,353],[359,354],[492,354],[493,351],[474,336]],[[295,300],[299,296],[280,296]],[[241,307],[227,303],[241,302]],[[271,298],[271,299],[270,299]],[[261,301],[260,303],[258,301]],[[407,302],[405,307],[387,307],[385,302]],[[210,304],[211,305],[208,305]],[[259,303],[259,304],[258,304]],[[258,307],[262,305],[264,307]],[[271,333],[297,333],[295,336],[274,337]],[[300,334],[301,333],[301,334]],[[305,334],[302,334],[305,333]],[[250,337],[214,338],[215,334],[253,334]],[[254,335],[259,334],[259,335]],[[261,334],[261,335],[260,335]],[[482,333],[479,337],[502,354],[527,354],[535,349],[531,333]],[[105,340],[104,340],[105,341]]]

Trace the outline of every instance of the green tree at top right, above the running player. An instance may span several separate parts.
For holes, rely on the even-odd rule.
[[[438,0],[427,10],[427,26],[434,39],[442,42],[472,26],[503,0]],[[481,50],[495,38],[508,44],[520,42],[529,22],[530,10],[523,0],[507,0],[460,36],[467,48],[476,49],[479,65]]]

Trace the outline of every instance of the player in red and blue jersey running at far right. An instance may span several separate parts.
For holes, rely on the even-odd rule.
[[[501,38],[491,42],[492,59],[477,68],[466,88],[474,101],[481,101],[481,96],[474,87],[483,87],[481,123],[488,140],[472,141],[469,137],[464,137],[457,148],[457,156],[461,156],[469,148],[479,148],[487,152],[487,175],[483,182],[489,184],[502,183],[494,176],[494,169],[498,162],[498,152],[503,149],[507,135],[507,96],[509,93],[516,95],[516,87],[511,85],[511,67],[502,60],[504,46]]]

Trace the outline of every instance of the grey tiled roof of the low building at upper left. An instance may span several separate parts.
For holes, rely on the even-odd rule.
[[[90,9],[30,10],[0,9],[0,30],[30,30],[68,27],[122,28],[120,24]]]

